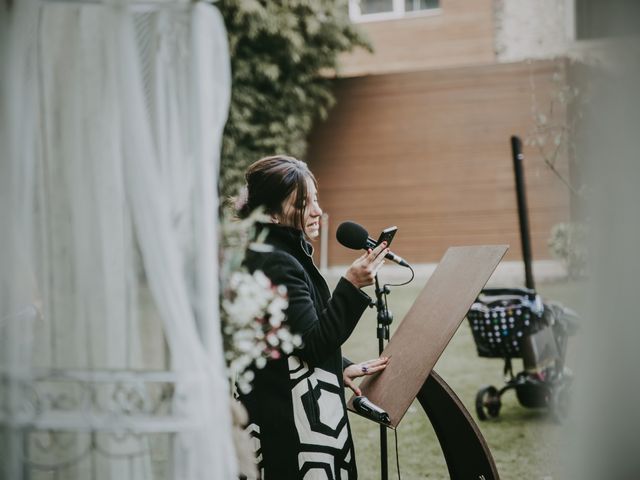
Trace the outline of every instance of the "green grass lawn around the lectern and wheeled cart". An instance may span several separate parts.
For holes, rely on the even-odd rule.
[[[384,280],[384,278],[383,278]],[[395,287],[389,296],[389,308],[394,313],[391,334],[400,324],[414,299],[424,287],[424,281],[414,281],[404,287]],[[579,283],[538,285],[545,300],[555,300],[578,309]],[[373,295],[373,293],[370,293]],[[571,346],[571,345],[570,345]],[[355,332],[343,348],[345,356],[353,361],[375,358],[378,354],[375,310],[368,310]],[[571,355],[568,364],[571,366]],[[562,429],[547,417],[544,411],[522,407],[513,390],[502,397],[498,419],[480,422],[475,413],[475,395],[486,384],[498,388],[504,385],[503,361],[479,358],[465,320],[451,340],[435,370],[453,388],[476,419],[496,462],[503,480],[563,478],[562,465],[556,461],[561,451]],[[514,370],[522,369],[521,360],[514,361]],[[360,478],[380,478],[380,446],[377,424],[358,415],[350,414],[356,444],[356,458]],[[440,444],[420,404],[416,401],[401,421],[397,430],[400,471],[405,480],[448,479],[448,471]],[[395,439],[388,431],[389,478],[397,478]]]

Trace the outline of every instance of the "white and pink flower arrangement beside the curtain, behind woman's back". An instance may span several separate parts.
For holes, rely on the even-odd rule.
[[[302,345],[285,323],[289,302],[284,285],[274,285],[260,270],[250,273],[242,266],[247,233],[255,223],[250,218],[227,224],[220,302],[222,337],[229,375],[242,393],[251,391],[254,369],[277,360]],[[264,250],[266,245],[252,245]]]

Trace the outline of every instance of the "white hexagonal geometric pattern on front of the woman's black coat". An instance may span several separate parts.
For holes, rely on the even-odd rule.
[[[288,360],[289,375],[295,382],[291,396],[302,478],[347,478],[351,442],[339,379],[321,368],[309,368],[295,356]]]

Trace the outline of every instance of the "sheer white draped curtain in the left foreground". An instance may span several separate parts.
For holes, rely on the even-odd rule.
[[[219,12],[22,0],[0,20],[3,473],[234,478]]]

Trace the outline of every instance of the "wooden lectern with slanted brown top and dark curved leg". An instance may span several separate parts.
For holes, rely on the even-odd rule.
[[[499,477],[471,415],[432,370],[507,248],[449,248],[382,353],[393,356],[393,361],[380,375],[366,377],[360,384],[362,395],[389,414],[391,428],[398,426],[417,398],[456,480]],[[355,412],[352,402],[353,397],[348,407]]]

